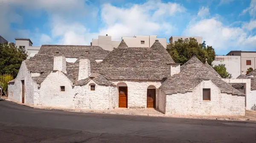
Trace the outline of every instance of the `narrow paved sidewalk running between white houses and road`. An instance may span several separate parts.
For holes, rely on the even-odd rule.
[[[5,98],[6,101],[11,101]],[[12,101],[15,102],[15,101]],[[21,104],[15,102],[17,104]],[[21,104],[24,106],[36,108],[36,109],[47,109],[47,110],[62,110],[68,112],[87,112],[87,113],[98,113],[98,114],[118,114],[118,115],[140,115],[140,116],[151,116],[151,117],[169,117],[169,118],[189,118],[189,119],[206,119],[206,120],[227,120],[227,121],[256,121],[256,111],[246,110],[245,116],[216,116],[216,115],[166,115],[157,109],[127,109],[117,108],[109,110],[89,110],[89,109],[67,109],[67,108],[53,108],[53,107],[34,107],[33,105]]]

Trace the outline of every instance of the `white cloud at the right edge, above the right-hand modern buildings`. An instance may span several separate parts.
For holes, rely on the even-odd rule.
[[[255,24],[255,23],[254,23]],[[255,25],[254,25],[255,26]],[[248,33],[247,29],[253,28],[253,22],[243,28],[225,25],[218,17],[194,19],[183,31],[184,35],[202,36],[207,45],[212,45],[217,52],[221,50],[253,49],[256,45],[256,36]]]

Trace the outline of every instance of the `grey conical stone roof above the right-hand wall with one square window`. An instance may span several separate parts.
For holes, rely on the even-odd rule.
[[[212,73],[196,56],[193,56],[188,62],[181,66],[179,74],[175,74],[166,79],[161,89],[164,93],[169,94],[192,92],[203,80],[211,80],[213,84],[221,90],[221,93],[244,95]]]

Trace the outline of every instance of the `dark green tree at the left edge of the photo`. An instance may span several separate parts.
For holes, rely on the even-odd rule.
[[[0,74],[11,74],[15,78],[26,57],[25,48],[17,48],[14,43],[0,43]]]

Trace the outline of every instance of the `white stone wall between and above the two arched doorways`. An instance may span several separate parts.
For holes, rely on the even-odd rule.
[[[146,108],[148,86],[154,85],[157,90],[161,86],[161,82],[158,80],[111,80],[111,81],[116,85],[120,82],[124,82],[127,85],[128,108]],[[156,95],[156,99],[158,98],[157,96],[158,95]],[[158,103],[156,103],[156,106],[157,104]]]

